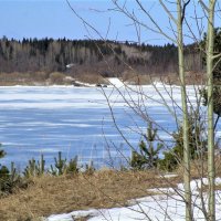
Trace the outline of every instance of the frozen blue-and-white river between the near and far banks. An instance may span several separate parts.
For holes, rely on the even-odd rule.
[[[172,104],[170,94],[162,92],[165,88],[160,85],[158,88],[165,97],[164,102],[179,112]],[[136,87],[133,90],[137,91]],[[194,90],[189,91],[190,99],[194,101]],[[140,106],[140,109],[148,112],[157,124],[169,131],[176,130],[175,120],[156,90],[146,86],[143,92],[148,97],[120,91],[127,101],[130,101],[134,110],[136,106]],[[116,151],[116,148],[128,157],[130,149],[113,124],[103,93],[110,101],[120,130],[136,147],[140,138],[139,133],[145,131],[147,122],[135,115],[112,87],[104,91],[72,86],[0,87],[0,143],[7,151],[7,157],[1,159],[1,164],[9,165],[14,161],[18,167],[23,167],[29,159],[39,159],[43,152],[49,165],[60,150],[67,159],[77,155],[82,164],[93,159],[97,166],[104,164],[104,159],[107,160],[109,155],[120,158],[122,154]],[[179,105],[179,87],[172,90],[172,96]],[[162,138],[168,138],[167,133],[160,129],[159,134]]]

